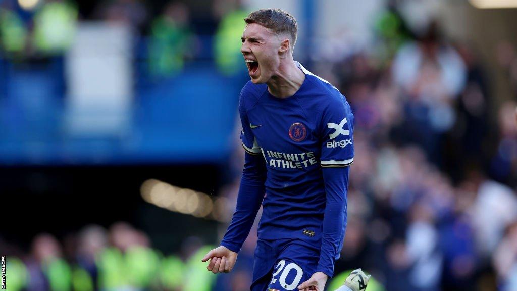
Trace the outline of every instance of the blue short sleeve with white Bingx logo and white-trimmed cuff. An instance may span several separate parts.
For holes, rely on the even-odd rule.
[[[323,111],[321,166],[346,167],[354,162],[354,115],[343,96]]]

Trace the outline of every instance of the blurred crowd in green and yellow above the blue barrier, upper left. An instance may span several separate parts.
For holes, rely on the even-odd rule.
[[[52,63],[66,55],[82,22],[97,22],[129,28],[133,57],[145,77],[173,77],[189,60],[213,59],[226,75],[242,71],[245,66],[237,57],[240,39],[235,35],[241,34],[248,11],[239,0],[205,2],[208,8],[185,1],[2,0],[0,61]]]

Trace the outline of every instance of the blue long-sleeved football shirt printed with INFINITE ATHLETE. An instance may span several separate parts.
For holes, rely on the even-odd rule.
[[[354,115],[336,88],[297,65],[306,78],[291,97],[272,96],[266,84],[251,81],[241,91],[241,140],[247,161],[236,213],[221,244],[240,249],[262,202],[259,239],[321,243],[326,252],[322,264],[333,265],[346,226],[348,168],[326,175],[325,169],[354,161]],[[328,239],[325,215],[331,229]]]

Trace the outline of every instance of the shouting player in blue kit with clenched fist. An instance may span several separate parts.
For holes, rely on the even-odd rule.
[[[251,290],[323,291],[346,226],[354,115],[336,88],[293,60],[294,17],[261,9],[245,21],[245,165],[232,223],[203,261],[230,272],[262,203]]]

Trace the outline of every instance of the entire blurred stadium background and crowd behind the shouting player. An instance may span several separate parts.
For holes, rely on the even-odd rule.
[[[352,105],[348,226],[328,290],[517,290],[512,0],[0,0],[7,290],[248,290],[206,271],[235,208],[244,18]],[[260,215],[259,215],[260,216]]]

